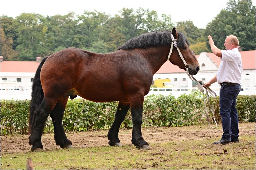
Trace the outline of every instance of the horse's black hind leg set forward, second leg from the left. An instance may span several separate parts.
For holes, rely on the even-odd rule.
[[[64,111],[65,111],[67,102],[68,102],[68,97],[61,98],[56,103],[55,107],[50,113],[50,116],[52,118],[52,123],[54,126],[54,139],[55,139],[56,145],[60,145],[61,148],[73,148],[72,142],[68,140],[62,124],[62,118],[64,116]]]

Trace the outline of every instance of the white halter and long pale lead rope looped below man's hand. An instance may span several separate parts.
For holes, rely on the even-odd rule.
[[[171,53],[172,53],[172,48],[173,48],[173,45],[177,48],[178,52],[179,52],[179,55],[180,55],[180,58],[181,60],[183,61],[183,63],[185,64],[185,67],[186,67],[186,73],[188,74],[188,77],[192,80],[192,81],[196,81],[196,87],[203,93],[203,97],[204,97],[204,83],[202,81],[197,81],[193,75],[190,75],[188,73],[188,68],[189,68],[189,65],[187,64],[187,62],[184,60],[181,52],[180,52],[180,49],[177,47],[177,42],[176,40],[178,39],[174,39],[173,35],[171,34],[171,37],[172,37],[172,45],[171,45],[171,49],[170,49],[170,53],[168,55],[168,58],[167,58],[167,61],[170,60],[170,56],[171,56]],[[193,79],[192,79],[193,78]],[[203,86],[202,86],[202,85]],[[210,124],[210,120],[209,120],[209,117],[208,117],[208,114],[207,114],[207,106],[206,106],[206,102],[205,102],[205,97],[204,97],[204,111],[205,111],[205,115],[206,115],[206,120],[207,120],[207,123],[208,125],[211,127],[211,128],[216,128],[217,127],[217,122],[215,120],[215,117],[214,117],[214,112],[213,112],[213,109],[212,109],[212,106],[211,104],[209,103],[209,94],[208,94],[208,91],[209,93],[213,96],[213,97],[216,97],[216,93],[214,91],[212,91],[212,89],[210,89],[208,86],[205,86],[206,87],[206,96],[207,96],[207,103],[208,105],[210,106],[211,108],[211,111],[212,111],[212,115],[213,115],[213,120],[214,120],[214,123],[215,123],[215,127],[212,127],[211,124]]]

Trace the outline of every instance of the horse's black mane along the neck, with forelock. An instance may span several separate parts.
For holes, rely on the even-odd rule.
[[[171,31],[156,31],[142,34],[138,37],[128,40],[123,46],[117,48],[117,50],[134,49],[134,48],[147,48],[151,46],[168,46],[172,44]],[[178,32],[179,39],[176,41],[178,47],[183,47],[188,43],[188,39],[182,32]]]

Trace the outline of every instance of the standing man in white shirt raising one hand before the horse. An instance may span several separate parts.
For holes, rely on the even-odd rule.
[[[229,35],[225,39],[225,49],[220,50],[214,45],[212,37],[209,35],[209,44],[212,53],[220,57],[220,66],[217,74],[204,86],[211,86],[212,83],[220,84],[220,116],[222,122],[223,135],[214,144],[229,144],[239,142],[238,113],[236,110],[236,96],[238,96],[241,86],[241,74],[243,72],[242,58],[238,51],[239,41],[234,35]],[[204,87],[206,89],[206,87]]]

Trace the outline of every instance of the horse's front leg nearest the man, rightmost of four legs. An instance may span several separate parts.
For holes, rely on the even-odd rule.
[[[142,124],[142,113],[143,113],[143,102],[144,95],[136,95],[130,97],[130,106],[132,113],[132,144],[139,149],[148,149],[149,145],[142,138],[141,124]]]

